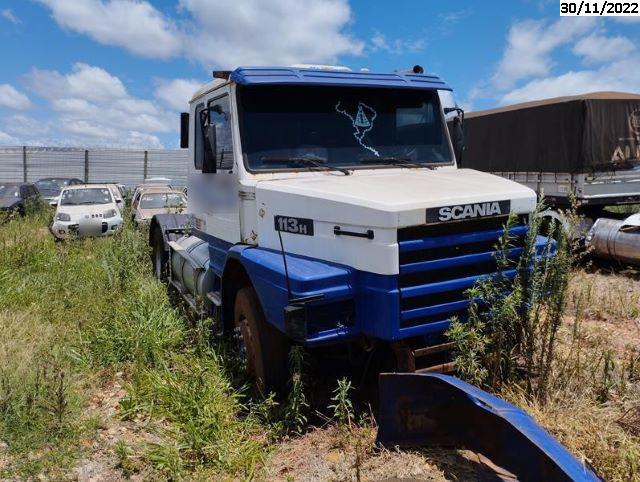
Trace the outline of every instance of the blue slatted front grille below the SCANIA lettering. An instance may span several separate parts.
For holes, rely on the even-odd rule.
[[[453,316],[464,319],[465,292],[497,272],[495,245],[506,223],[507,217],[500,216],[398,230],[400,328],[434,324],[434,331],[440,331]],[[514,261],[527,230],[523,216],[510,231],[514,239],[508,256]],[[504,274],[513,277],[515,269]]]

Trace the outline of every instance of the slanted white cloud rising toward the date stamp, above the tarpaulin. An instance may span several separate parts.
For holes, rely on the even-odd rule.
[[[509,89],[518,80],[547,75],[553,65],[551,53],[590,30],[595,21],[593,17],[563,17],[551,24],[534,20],[514,24],[493,84]]]

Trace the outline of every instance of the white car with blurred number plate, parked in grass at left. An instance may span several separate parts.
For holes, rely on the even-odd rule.
[[[68,186],[62,190],[51,232],[71,236],[109,236],[122,228],[122,214],[107,184]]]

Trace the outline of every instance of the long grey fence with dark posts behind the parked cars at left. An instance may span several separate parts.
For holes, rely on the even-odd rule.
[[[187,184],[186,149],[80,149],[0,146],[0,182],[76,177],[89,183],[135,186],[151,177]]]

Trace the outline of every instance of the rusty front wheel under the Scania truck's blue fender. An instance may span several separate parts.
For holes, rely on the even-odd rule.
[[[235,334],[241,338],[247,375],[263,394],[278,391],[288,380],[289,343],[265,319],[260,300],[251,287],[236,295]]]

